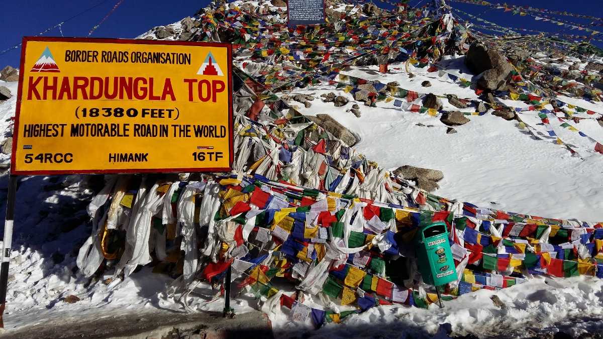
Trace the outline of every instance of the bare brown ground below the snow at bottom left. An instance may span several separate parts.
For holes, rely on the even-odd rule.
[[[134,339],[272,339],[270,320],[255,311],[224,318],[216,312],[184,314],[169,311],[129,312],[102,318],[65,317],[12,329],[0,338],[134,338]]]

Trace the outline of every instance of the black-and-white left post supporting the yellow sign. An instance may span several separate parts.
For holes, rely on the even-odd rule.
[[[10,247],[13,241],[14,198],[17,193],[17,176],[8,176],[8,197],[6,217],[4,221],[4,241],[2,242],[2,264],[0,265],[0,328],[4,328],[4,308],[6,306],[6,289],[8,285],[8,263]]]

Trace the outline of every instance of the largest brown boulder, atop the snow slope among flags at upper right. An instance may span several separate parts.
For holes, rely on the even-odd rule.
[[[465,55],[465,65],[473,74],[482,74],[478,84],[487,89],[496,90],[504,87],[513,66],[504,55],[484,45],[473,43]]]

